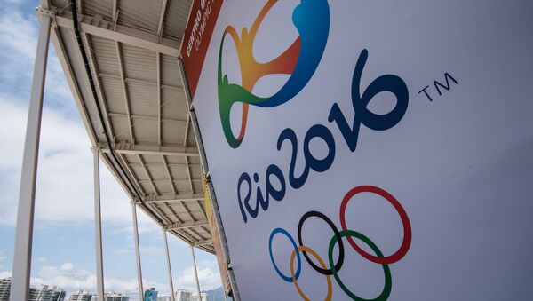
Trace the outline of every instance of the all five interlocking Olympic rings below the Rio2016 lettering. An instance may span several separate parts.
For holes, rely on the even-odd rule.
[[[346,205],[350,200],[356,195],[361,193],[371,193],[371,194],[378,194],[379,196],[386,199],[386,201],[390,202],[394,209],[398,212],[400,215],[400,219],[402,220],[402,226],[403,226],[403,240],[402,245],[398,250],[396,250],[392,255],[384,256],[381,250],[378,249],[378,246],[370,241],[368,237],[365,235],[356,232],[354,230],[347,230],[346,228]],[[304,223],[306,222],[307,218],[320,218],[328,226],[331,227],[333,230],[333,237],[330,240],[329,248],[328,248],[328,264],[330,268],[328,268],[328,265],[324,263],[322,258],[316,253],[315,250],[307,247],[303,240],[302,240],[302,227],[304,226]],[[318,211],[308,211],[306,214],[300,218],[298,222],[298,244],[292,238],[292,236],[287,232],[287,230],[283,228],[275,228],[272,233],[270,234],[270,239],[268,241],[268,251],[270,253],[270,260],[272,261],[272,265],[274,265],[274,270],[278,275],[282,278],[282,280],[294,283],[294,286],[298,290],[298,294],[300,297],[302,297],[304,300],[309,300],[308,297],[304,294],[302,289],[298,285],[298,278],[300,275],[300,272],[302,270],[302,260],[300,257],[300,252],[304,255],[307,264],[311,265],[311,267],[316,271],[317,273],[322,273],[326,276],[326,281],[328,284],[328,292],[325,297],[325,300],[331,300],[333,289],[331,285],[331,279],[330,275],[333,275],[335,278],[335,281],[337,281],[338,286],[345,292],[346,296],[354,299],[354,300],[367,300],[362,297],[358,297],[354,294],[350,289],[346,287],[346,284],[340,279],[338,275],[338,271],[342,268],[344,264],[344,257],[345,257],[345,250],[344,250],[344,243],[343,238],[346,238],[346,241],[350,244],[352,249],[354,249],[359,255],[364,257],[365,259],[369,260],[370,262],[376,263],[378,265],[381,265],[383,267],[383,273],[385,273],[385,286],[383,290],[381,291],[381,294],[379,294],[378,297],[372,299],[375,301],[378,300],[386,300],[390,294],[392,289],[392,276],[391,276],[391,270],[388,265],[394,264],[395,262],[398,262],[401,260],[408,252],[410,248],[410,242],[411,242],[411,227],[410,227],[410,220],[407,216],[407,213],[402,207],[402,204],[394,198],[392,194],[387,193],[385,190],[378,188],[376,186],[357,186],[354,187],[352,190],[348,191],[348,193],[343,198],[342,202],[340,203],[340,210],[339,210],[339,219],[340,219],[340,225],[341,225],[341,231],[338,231],[337,226],[331,221],[330,218],[325,216],[323,213]],[[290,275],[283,274],[278,266],[275,264],[274,256],[272,254],[272,241],[274,239],[275,234],[283,234],[286,236],[290,243],[292,244],[294,250],[292,251],[292,254],[290,255]],[[366,250],[363,250],[357,243],[355,243],[354,238],[358,239],[361,242],[364,242],[370,247],[370,250],[374,252],[375,255],[368,253]],[[333,250],[335,249],[335,245],[338,243],[338,259],[337,263],[334,263],[333,260]],[[316,265],[313,260],[308,256],[310,254],[312,257],[314,257],[319,265]],[[296,272],[294,271],[294,259],[297,258],[298,261],[298,268],[296,269]]]

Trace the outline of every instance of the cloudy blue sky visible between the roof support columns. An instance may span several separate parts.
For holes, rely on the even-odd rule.
[[[20,166],[36,51],[36,1],[0,5],[0,278],[11,275]],[[50,47],[36,187],[32,279],[68,292],[95,290],[92,154],[84,125]],[[101,166],[106,290],[137,286],[131,205]],[[143,281],[168,293],[163,232],[139,210]],[[169,235],[174,288],[195,289],[189,246]],[[196,250],[202,289],[219,287],[216,257]]]

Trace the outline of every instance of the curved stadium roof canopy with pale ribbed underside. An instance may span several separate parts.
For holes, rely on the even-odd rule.
[[[40,5],[91,145],[141,210],[214,253],[178,62],[191,0],[77,0],[77,22],[68,0]]]

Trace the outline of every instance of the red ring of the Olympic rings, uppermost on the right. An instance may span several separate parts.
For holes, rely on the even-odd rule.
[[[340,204],[340,225],[342,226],[343,230],[346,230],[346,205],[348,202],[354,197],[355,194],[360,193],[373,193],[378,194],[385,198],[388,202],[390,202],[396,211],[398,211],[398,214],[400,215],[400,218],[402,219],[402,225],[403,225],[403,241],[402,245],[400,246],[400,249],[396,250],[393,255],[386,256],[386,257],[377,257],[374,255],[371,255],[367,253],[365,250],[362,250],[355,242],[354,239],[350,236],[346,237],[350,245],[354,248],[357,253],[359,253],[362,257],[365,257],[367,260],[370,260],[371,262],[377,263],[377,264],[394,264],[398,260],[402,259],[405,254],[407,254],[407,251],[410,247],[411,242],[411,228],[410,228],[410,221],[407,216],[407,213],[405,210],[403,210],[402,205],[396,198],[394,198],[393,195],[387,193],[385,190],[378,188],[376,186],[357,186],[350,190],[342,200],[342,203]]]

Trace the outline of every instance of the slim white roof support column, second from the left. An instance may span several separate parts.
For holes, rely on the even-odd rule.
[[[104,263],[102,256],[102,211],[100,209],[99,187],[99,149],[93,148],[94,154],[94,239],[96,247],[96,297],[104,301]]]

